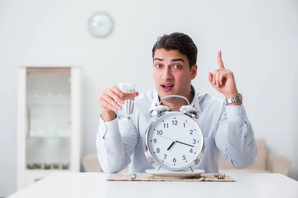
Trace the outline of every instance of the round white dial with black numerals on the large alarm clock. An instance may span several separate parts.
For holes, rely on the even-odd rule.
[[[200,154],[203,135],[192,118],[179,112],[169,112],[157,118],[151,126],[148,148],[163,167],[183,169]]]

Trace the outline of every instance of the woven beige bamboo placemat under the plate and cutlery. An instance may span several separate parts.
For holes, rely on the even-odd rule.
[[[108,181],[167,181],[167,182],[199,182],[199,181],[210,181],[210,182],[234,182],[232,177],[225,175],[224,179],[218,179],[215,175],[206,175],[202,174],[196,178],[187,178],[187,179],[169,179],[169,178],[159,178],[154,177],[154,175],[147,174],[137,174],[135,179],[131,179],[130,174],[111,174],[108,178]]]

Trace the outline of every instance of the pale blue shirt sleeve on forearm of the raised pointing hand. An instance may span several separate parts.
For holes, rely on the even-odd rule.
[[[254,131],[243,103],[241,105],[224,103],[215,143],[233,167],[241,169],[254,164],[257,147]]]

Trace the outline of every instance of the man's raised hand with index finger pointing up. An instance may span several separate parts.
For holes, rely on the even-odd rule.
[[[218,63],[220,68],[213,74],[209,72],[209,82],[217,91],[224,94],[225,99],[239,96],[233,72],[224,68],[221,50],[218,52]]]

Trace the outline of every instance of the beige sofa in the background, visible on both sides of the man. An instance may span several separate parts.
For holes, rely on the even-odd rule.
[[[291,161],[280,154],[268,154],[265,141],[257,139],[257,157],[255,163],[248,168],[233,168],[221,155],[220,172],[223,173],[281,173],[288,176]],[[86,172],[102,172],[97,159],[97,154],[88,154],[82,159],[82,164]],[[121,172],[128,172],[126,167]]]

